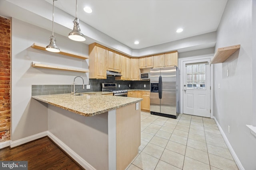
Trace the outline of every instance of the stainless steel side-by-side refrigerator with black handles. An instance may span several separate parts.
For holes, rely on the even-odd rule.
[[[179,68],[150,69],[150,113],[176,119],[180,113]]]

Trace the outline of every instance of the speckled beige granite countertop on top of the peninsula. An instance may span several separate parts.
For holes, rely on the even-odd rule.
[[[52,94],[32,96],[32,98],[83,116],[98,115],[113,109],[117,109],[119,107],[124,107],[129,104],[142,101],[142,98],[126,98],[121,96],[102,95],[110,93],[112,92],[83,93],[94,94],[88,96],[73,96],[71,94]]]

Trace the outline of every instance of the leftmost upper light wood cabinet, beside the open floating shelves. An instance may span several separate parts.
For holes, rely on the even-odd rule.
[[[106,47],[97,43],[89,45],[89,78],[106,79]]]

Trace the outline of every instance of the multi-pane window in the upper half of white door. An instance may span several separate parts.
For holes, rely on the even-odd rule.
[[[206,63],[186,65],[187,89],[205,89]]]

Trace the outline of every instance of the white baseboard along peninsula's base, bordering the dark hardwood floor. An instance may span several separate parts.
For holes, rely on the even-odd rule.
[[[88,162],[86,162],[81,156],[76,154],[76,152],[70,149],[66,144],[60,141],[60,139],[58,139],[49,131],[48,131],[48,137],[50,137],[52,141],[54,141],[61,149],[63,149],[69,156],[71,156],[83,168],[85,168],[86,170],[96,170],[93,166],[91,166]]]

